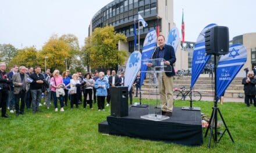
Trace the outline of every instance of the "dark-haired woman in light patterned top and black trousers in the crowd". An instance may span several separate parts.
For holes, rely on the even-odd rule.
[[[87,73],[83,79],[83,93],[84,93],[84,109],[86,109],[87,95],[89,95],[88,104],[91,110],[93,110],[93,86],[94,80],[91,78],[90,73]]]

